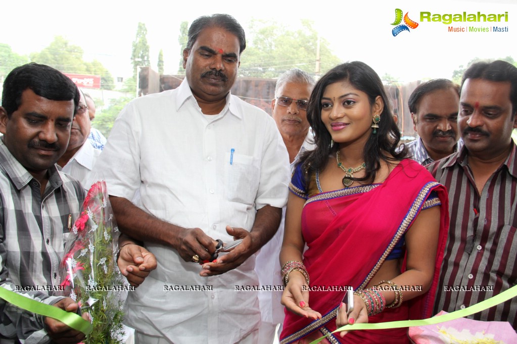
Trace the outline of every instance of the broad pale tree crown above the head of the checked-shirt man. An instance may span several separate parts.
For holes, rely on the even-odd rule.
[[[30,56],[33,62],[50,65],[63,73],[100,75],[101,89],[112,90],[115,85],[111,73],[98,60],[84,61],[83,53],[79,45],[70,44],[62,36],[56,36],[49,46]]]

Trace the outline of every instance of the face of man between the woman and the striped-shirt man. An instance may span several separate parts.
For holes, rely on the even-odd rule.
[[[433,159],[454,152],[458,142],[458,93],[452,89],[435,90],[423,95],[418,112],[413,113],[414,129]]]

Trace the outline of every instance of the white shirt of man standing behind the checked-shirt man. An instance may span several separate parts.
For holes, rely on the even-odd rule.
[[[92,144],[86,140],[79,151],[75,152],[72,158],[63,166],[62,171],[81,182],[85,190],[89,190],[94,177],[92,171],[100,153],[100,150],[93,148]]]

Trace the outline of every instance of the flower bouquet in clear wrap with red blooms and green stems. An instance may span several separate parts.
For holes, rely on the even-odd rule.
[[[106,183],[97,182],[84,199],[60,264],[64,296],[78,302],[81,312],[88,312],[92,319],[93,331],[85,343],[115,344],[123,336],[118,236]]]

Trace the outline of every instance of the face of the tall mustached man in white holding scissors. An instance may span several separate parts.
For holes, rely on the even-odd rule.
[[[190,51],[183,51],[183,67],[198,101],[223,99],[232,88],[239,68],[239,40],[220,27],[207,27]]]

